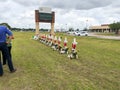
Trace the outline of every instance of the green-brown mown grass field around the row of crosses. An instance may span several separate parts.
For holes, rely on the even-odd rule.
[[[120,90],[119,40],[76,37],[79,59],[70,60],[31,39],[33,35],[14,32],[12,55],[17,72],[9,73],[3,66],[0,90]],[[71,49],[74,36],[67,38]]]

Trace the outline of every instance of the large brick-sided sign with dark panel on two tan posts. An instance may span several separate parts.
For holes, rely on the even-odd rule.
[[[51,34],[54,35],[55,12],[51,8],[41,7],[35,10],[36,35],[39,34],[39,22],[51,23]]]

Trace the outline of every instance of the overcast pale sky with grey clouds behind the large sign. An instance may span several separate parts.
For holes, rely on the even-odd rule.
[[[0,23],[35,28],[39,7],[55,12],[55,29],[83,29],[120,21],[120,0],[0,0]],[[50,24],[40,23],[40,28],[50,28]]]

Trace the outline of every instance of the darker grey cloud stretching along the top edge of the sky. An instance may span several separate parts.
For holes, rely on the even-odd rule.
[[[43,4],[46,6],[50,6],[53,8],[63,8],[63,9],[76,9],[76,10],[81,10],[81,9],[92,9],[92,8],[97,8],[97,7],[104,7],[106,5],[111,4],[113,1],[112,0],[52,0],[48,1],[46,0]]]

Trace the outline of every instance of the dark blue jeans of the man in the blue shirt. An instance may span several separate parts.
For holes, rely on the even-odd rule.
[[[4,56],[7,60],[9,70],[13,71],[14,67],[13,67],[12,59],[10,58],[10,54],[9,54],[9,51],[8,51],[7,44],[6,43],[0,43],[0,50],[2,51],[2,54],[4,54]],[[3,74],[3,68],[2,68],[2,63],[1,63],[1,60],[0,60],[0,75],[2,75],[2,74]]]

